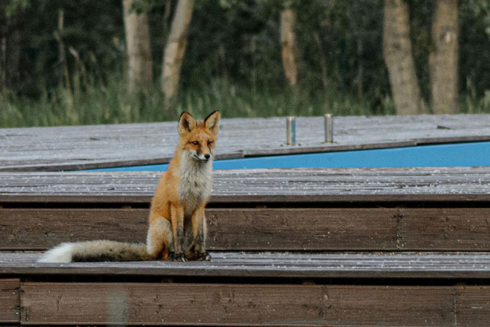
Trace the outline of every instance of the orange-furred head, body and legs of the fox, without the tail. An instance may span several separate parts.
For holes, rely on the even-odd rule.
[[[179,144],[151,202],[147,249],[153,256],[164,259],[174,256],[175,260],[209,258],[204,245],[204,207],[211,194],[211,166],[204,166],[212,165],[220,116],[220,112],[215,111],[207,119],[196,123],[189,113],[182,113],[179,119]],[[206,155],[211,157],[209,161],[201,162],[196,155],[201,155],[201,158],[205,158]],[[204,176],[188,176],[194,172]],[[193,183],[186,186],[188,179],[192,179]],[[187,189],[193,187],[199,194],[196,195],[193,190]],[[159,230],[155,227],[162,224],[160,219],[165,219],[172,225],[173,242],[169,240],[168,228]],[[193,239],[190,240],[190,237]],[[200,237],[202,239],[199,239]],[[158,238],[162,239],[162,242],[156,242]],[[185,253],[187,255],[184,255]]]

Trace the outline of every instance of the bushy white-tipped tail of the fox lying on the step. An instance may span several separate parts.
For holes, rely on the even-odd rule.
[[[144,243],[116,242],[105,239],[62,243],[45,252],[40,263],[71,263],[89,261],[155,260]]]

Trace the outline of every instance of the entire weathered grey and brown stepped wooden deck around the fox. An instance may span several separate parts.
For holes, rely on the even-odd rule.
[[[489,116],[339,118],[330,146],[321,123],[286,148],[283,119],[224,120],[218,151],[490,139]],[[216,171],[211,262],[36,263],[59,242],[144,242],[160,172],[20,170],[162,162],[174,125],[0,130],[0,324],[490,325],[490,167]]]

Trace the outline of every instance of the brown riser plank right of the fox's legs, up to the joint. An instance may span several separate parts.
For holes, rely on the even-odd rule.
[[[396,248],[396,209],[209,209],[208,240],[225,251]]]

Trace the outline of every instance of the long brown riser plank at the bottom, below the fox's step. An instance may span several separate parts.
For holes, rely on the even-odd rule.
[[[456,320],[454,288],[447,286],[31,282],[21,287],[23,324],[455,326]]]

